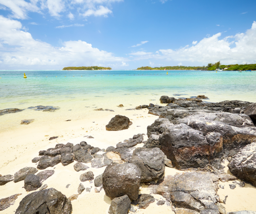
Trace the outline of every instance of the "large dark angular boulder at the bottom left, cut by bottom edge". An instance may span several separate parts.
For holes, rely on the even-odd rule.
[[[40,190],[25,196],[15,214],[71,214],[70,200],[54,188]]]

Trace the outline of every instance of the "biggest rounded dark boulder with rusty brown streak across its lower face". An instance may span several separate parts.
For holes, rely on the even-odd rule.
[[[186,124],[166,129],[159,141],[161,150],[177,169],[204,168],[209,164],[209,143],[202,132]]]

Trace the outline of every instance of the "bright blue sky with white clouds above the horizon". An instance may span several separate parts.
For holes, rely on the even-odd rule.
[[[255,0],[0,0],[0,69],[256,63],[255,9]]]

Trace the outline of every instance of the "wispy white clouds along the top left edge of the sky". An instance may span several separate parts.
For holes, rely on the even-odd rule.
[[[0,10],[9,9],[10,16],[17,19],[28,19],[29,12],[48,11],[51,16],[58,18],[63,13],[73,20],[71,9],[77,8],[85,17],[90,15],[107,17],[112,13],[111,3],[120,1],[123,0],[0,0]]]

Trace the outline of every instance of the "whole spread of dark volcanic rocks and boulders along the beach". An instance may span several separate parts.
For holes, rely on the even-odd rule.
[[[147,108],[149,114],[159,116],[147,127],[147,141],[142,133],[108,148],[93,147],[85,141],[76,145],[59,143],[39,151],[32,160],[37,168],[28,166],[14,176],[0,175],[0,185],[24,182],[26,191],[36,190],[21,200],[16,213],[72,213],[72,201],[84,190],[90,192],[94,184],[95,193],[104,191],[112,200],[109,213],[136,213],[157,203],[169,206],[176,214],[226,214],[226,198],[217,194],[222,188],[220,182],[232,181],[230,189],[244,183],[256,187],[256,104],[238,100],[210,103],[202,99],[207,97],[162,96],[160,101],[166,106],[137,106],[137,110]],[[129,118],[116,115],[106,129],[120,131],[131,124]],[[228,168],[233,175],[225,173],[225,160],[230,162]],[[45,181],[55,174],[48,167],[74,162],[74,172],[85,171],[79,177],[77,193],[66,197],[54,188],[46,189]],[[86,164],[106,169],[103,174],[94,174]],[[165,176],[169,167],[180,173]],[[143,185],[150,194],[140,194]],[[163,200],[157,201],[154,194]],[[17,197],[19,194],[0,199],[0,211],[13,206]]]

